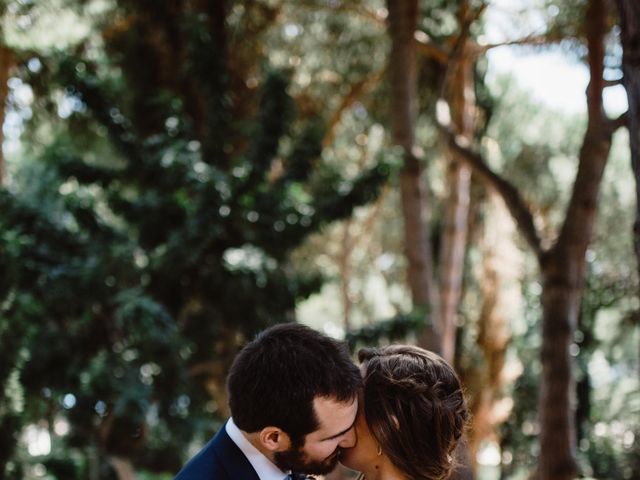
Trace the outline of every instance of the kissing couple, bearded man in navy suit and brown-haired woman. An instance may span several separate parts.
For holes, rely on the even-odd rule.
[[[442,480],[469,418],[460,381],[410,345],[346,345],[297,323],[236,356],[231,418],[175,480],[296,480],[338,462],[366,480]]]

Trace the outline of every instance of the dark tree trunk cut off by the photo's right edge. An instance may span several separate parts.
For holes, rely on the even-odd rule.
[[[622,37],[622,82],[629,100],[629,143],[636,178],[636,218],[633,245],[640,277],[640,2],[617,0]]]

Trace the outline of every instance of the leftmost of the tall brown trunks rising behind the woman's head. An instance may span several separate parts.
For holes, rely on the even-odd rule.
[[[422,165],[415,155],[416,49],[414,32],[418,21],[417,0],[388,0],[391,36],[389,81],[393,143],[402,147],[404,167],[400,173],[400,196],[404,217],[405,255],[414,307],[429,310],[421,345],[440,351],[437,294],[433,282],[433,262],[426,220],[426,194],[422,185]]]

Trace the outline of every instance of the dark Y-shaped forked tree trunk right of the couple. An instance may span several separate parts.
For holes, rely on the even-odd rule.
[[[577,474],[575,459],[574,380],[570,345],[576,328],[585,275],[585,254],[591,241],[604,167],[616,128],[624,116],[607,119],[602,104],[604,37],[607,11],[604,0],[590,0],[585,18],[590,82],[587,89],[588,124],[580,150],[578,172],[564,224],[550,248],[545,249],[533,214],[520,192],[492,171],[477,152],[458,141],[450,125],[449,144],[464,154],[477,176],[503,196],[521,233],[536,253],[542,276],[542,378],[540,415],[541,480],[570,480]]]

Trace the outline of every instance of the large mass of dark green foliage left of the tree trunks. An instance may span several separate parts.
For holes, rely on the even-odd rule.
[[[346,178],[322,162],[323,119],[296,114],[290,72],[258,66],[258,33],[233,42],[229,8],[118,2],[104,48],[21,69],[36,108],[57,92],[75,107],[16,174],[42,183],[0,195],[2,469],[16,422],[47,421],[69,424],[43,462],[56,478],[86,478],[96,455],[175,472],[224,418],[209,386],[239,345],[320,286],[290,267],[291,250],[395,168]]]

